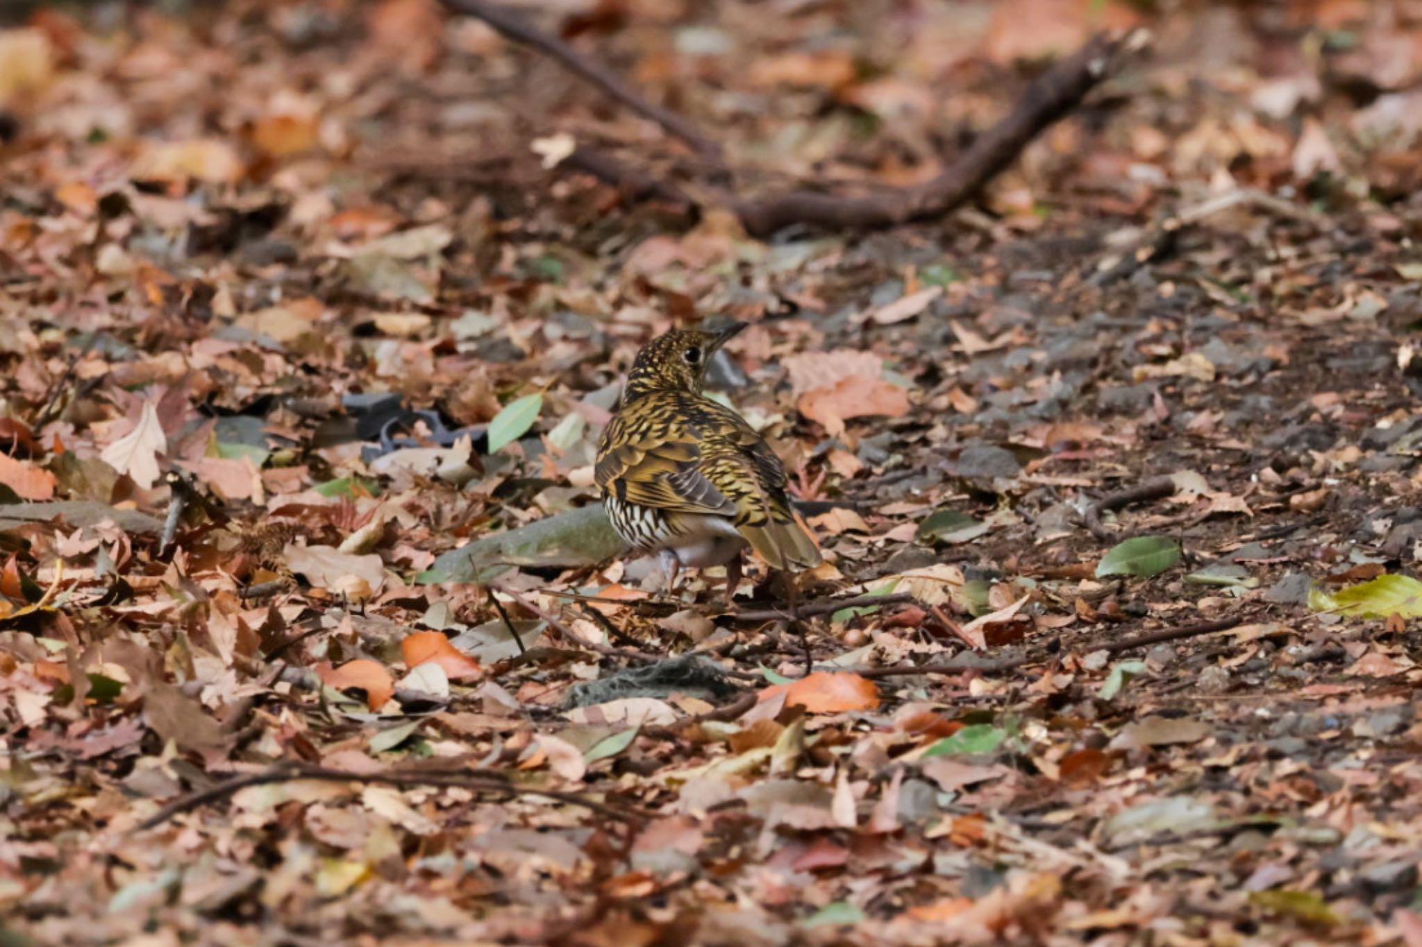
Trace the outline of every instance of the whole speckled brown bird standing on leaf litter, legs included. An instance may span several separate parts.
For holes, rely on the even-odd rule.
[[[647,342],[594,467],[613,528],[637,555],[658,555],[667,591],[684,568],[725,565],[727,605],[747,547],[772,569],[820,562],[791,508],[781,459],[744,417],[701,393],[711,356],[742,329],[673,329]]]

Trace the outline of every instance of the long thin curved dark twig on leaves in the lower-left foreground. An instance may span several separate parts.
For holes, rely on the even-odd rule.
[[[641,812],[607,805],[606,802],[599,802],[579,792],[523,787],[499,778],[472,775],[468,772],[347,772],[346,770],[330,770],[327,767],[317,767],[309,762],[289,761],[279,762],[269,770],[262,770],[260,772],[246,772],[232,777],[230,779],[223,779],[222,782],[210,785],[206,789],[198,789],[195,792],[181,795],[154,815],[139,822],[135,831],[142,832],[152,829],[178,815],[182,815],[183,812],[191,812],[192,809],[209,802],[216,802],[218,799],[226,799],[232,794],[239,789],[246,789],[247,787],[269,785],[273,782],[294,782],[297,779],[313,779],[316,782],[357,782],[363,785],[395,787],[398,789],[411,789],[415,787],[442,787],[471,789],[474,792],[538,795],[546,799],[566,802],[567,805],[577,805],[596,812],[597,815],[604,815],[621,822],[640,822],[647,818]]]

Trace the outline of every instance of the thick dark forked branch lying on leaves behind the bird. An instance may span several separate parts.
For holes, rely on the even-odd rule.
[[[722,179],[727,176],[720,145],[685,118],[650,102],[610,70],[593,62],[560,38],[530,26],[498,3],[441,1],[447,9],[482,20],[506,38],[555,60],[710,159],[717,176]],[[1003,121],[983,132],[944,173],[923,185],[890,187],[857,196],[789,190],[781,195],[747,197],[717,183],[705,189],[707,200],[731,209],[752,236],[768,236],[791,224],[867,230],[941,217],[970,200],[988,180],[1017,160],[1034,138],[1081,105],[1086,94],[1111,75],[1125,55],[1143,48],[1148,40],[1149,34],[1145,30],[1092,37],[1074,55],[1058,61],[1039,75]],[[701,206],[701,202],[675,185],[586,148],[579,148],[562,163],[594,175],[636,197],[657,197],[687,207]]]

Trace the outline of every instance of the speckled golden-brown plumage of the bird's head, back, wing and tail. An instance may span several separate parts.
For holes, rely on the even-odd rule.
[[[725,517],[772,568],[813,566],[819,549],[795,520],[779,457],[739,415],[701,395],[705,361],[725,338],[677,331],[643,348],[603,432],[597,486],[673,524]],[[688,349],[704,355],[700,363],[687,363]]]

